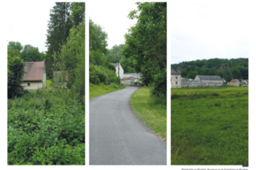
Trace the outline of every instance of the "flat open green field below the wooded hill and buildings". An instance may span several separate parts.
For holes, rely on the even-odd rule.
[[[172,89],[172,165],[248,165],[248,87]]]

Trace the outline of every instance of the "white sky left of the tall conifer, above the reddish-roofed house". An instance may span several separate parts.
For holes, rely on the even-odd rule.
[[[7,41],[20,42],[23,47],[30,44],[40,52],[46,51],[47,24],[54,4],[53,1],[11,1],[6,5],[12,6],[12,10],[6,10]]]

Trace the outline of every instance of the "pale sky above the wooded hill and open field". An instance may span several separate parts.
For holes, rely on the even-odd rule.
[[[248,58],[248,4],[239,2],[172,1],[171,63]]]

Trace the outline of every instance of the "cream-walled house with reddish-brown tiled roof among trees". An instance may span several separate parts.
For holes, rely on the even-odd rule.
[[[46,87],[46,70],[44,61],[25,62],[23,75],[24,89],[39,89]]]

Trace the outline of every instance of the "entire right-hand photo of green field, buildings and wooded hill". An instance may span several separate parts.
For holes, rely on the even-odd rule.
[[[170,5],[171,165],[248,166],[247,11],[243,2]]]

